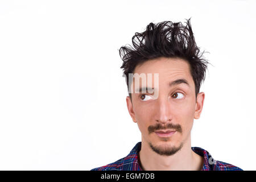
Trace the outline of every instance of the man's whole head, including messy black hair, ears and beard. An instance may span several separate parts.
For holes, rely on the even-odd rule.
[[[131,86],[129,73],[158,73],[158,85],[154,87],[158,97],[152,93],[129,93],[129,113],[138,123],[142,140],[153,151],[173,155],[190,139],[193,119],[198,119],[203,109],[204,93],[199,90],[208,61],[196,46],[190,19],[187,26],[180,22],[150,23],[146,31],[135,33],[133,46],[119,50],[127,88]],[[167,136],[156,132],[160,130],[175,133]]]

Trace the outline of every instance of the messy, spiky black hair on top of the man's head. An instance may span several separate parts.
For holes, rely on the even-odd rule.
[[[129,90],[129,73],[133,73],[137,65],[159,57],[180,58],[190,65],[190,72],[195,82],[196,98],[201,83],[205,80],[205,71],[209,63],[196,46],[189,18],[186,26],[181,22],[164,21],[150,23],[146,31],[136,32],[132,38],[133,46],[122,46],[119,55],[123,60],[123,76]],[[129,93],[131,98],[131,93]]]

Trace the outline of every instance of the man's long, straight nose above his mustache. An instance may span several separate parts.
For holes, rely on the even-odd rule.
[[[156,104],[155,121],[162,123],[163,125],[172,121],[171,104],[168,99],[158,99]]]

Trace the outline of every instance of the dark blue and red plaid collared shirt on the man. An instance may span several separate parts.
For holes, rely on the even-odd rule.
[[[196,152],[196,154],[204,157],[204,165],[201,171],[243,171],[241,168],[233,166],[232,164],[214,160],[209,152],[203,148],[191,147],[191,149]],[[119,159],[106,166],[93,168],[91,171],[142,171],[143,169],[138,162],[139,151],[141,151],[141,142],[138,142],[125,158]]]

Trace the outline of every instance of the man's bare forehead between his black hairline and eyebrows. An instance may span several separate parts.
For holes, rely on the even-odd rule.
[[[148,60],[137,65],[134,73],[159,73],[159,81],[171,81],[176,78],[185,78],[189,82],[193,81],[189,63],[179,58],[160,57],[159,59]]]

